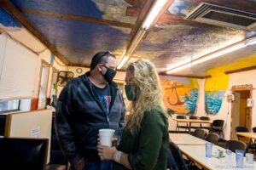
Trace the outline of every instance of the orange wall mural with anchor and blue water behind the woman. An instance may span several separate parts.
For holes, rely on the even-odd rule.
[[[195,79],[160,77],[164,89],[164,101],[169,113],[194,114],[198,99]]]

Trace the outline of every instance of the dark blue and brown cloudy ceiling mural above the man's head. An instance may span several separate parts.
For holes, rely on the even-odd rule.
[[[11,0],[16,8],[48,11],[55,14],[74,14],[92,19],[114,20],[134,24],[136,17],[125,16],[129,6],[124,0]],[[22,11],[26,19],[73,65],[90,65],[91,57],[99,50],[122,54],[127,46],[131,28],[108,26],[95,22],[60,19],[44,14]],[[114,41],[113,41],[114,40]]]

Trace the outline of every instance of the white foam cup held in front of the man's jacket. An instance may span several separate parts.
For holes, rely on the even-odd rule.
[[[100,136],[100,143],[104,146],[112,146],[111,139],[113,138],[114,130],[113,129],[100,129],[99,136]]]

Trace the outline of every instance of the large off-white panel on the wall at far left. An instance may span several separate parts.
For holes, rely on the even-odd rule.
[[[4,39],[0,52],[3,58],[0,99],[32,98],[38,55],[9,37],[0,35],[0,38]]]

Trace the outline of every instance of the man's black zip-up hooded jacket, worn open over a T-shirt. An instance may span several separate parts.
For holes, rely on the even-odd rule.
[[[117,85],[109,83],[111,104],[107,114],[92,90],[89,75],[87,72],[67,83],[55,113],[55,131],[71,163],[82,157],[100,161],[96,150],[99,129],[115,129],[115,135],[120,136],[125,124],[125,104]]]

